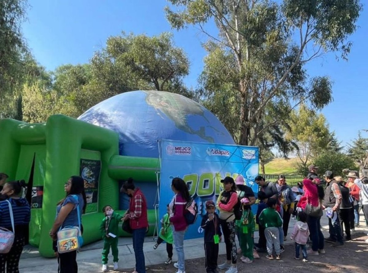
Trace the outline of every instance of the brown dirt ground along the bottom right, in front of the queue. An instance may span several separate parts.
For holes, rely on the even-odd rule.
[[[308,256],[309,262],[296,261],[294,259],[294,245],[285,245],[285,252],[280,261],[269,261],[265,253],[259,253],[260,259],[253,263],[245,264],[238,259],[238,272],[261,272],[261,273],[365,273],[368,271],[368,238],[366,234],[353,234],[353,240],[345,242],[343,247],[335,248],[326,243],[325,255]],[[300,254],[301,255],[301,254]],[[240,258],[240,255],[238,255]],[[218,263],[223,263],[225,255],[219,255]],[[133,272],[124,270],[124,272]],[[147,273],[175,273],[177,269],[173,265],[156,265],[148,267]],[[185,272],[206,272],[204,258],[185,261]],[[219,270],[224,273],[225,270]]]

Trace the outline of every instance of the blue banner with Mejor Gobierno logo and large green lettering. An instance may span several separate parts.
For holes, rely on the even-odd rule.
[[[205,202],[217,201],[222,189],[220,180],[231,176],[258,192],[254,183],[258,175],[258,147],[162,140],[160,172],[160,219],[174,196],[171,180],[182,178],[198,205],[197,221],[189,226],[186,239],[202,237],[201,219]],[[252,206],[256,212],[256,206]]]

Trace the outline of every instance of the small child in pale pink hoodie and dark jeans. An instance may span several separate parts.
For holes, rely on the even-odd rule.
[[[291,232],[290,240],[295,242],[295,259],[300,260],[300,248],[303,254],[303,262],[308,262],[307,241],[309,236],[309,229],[307,224],[307,215],[300,212],[299,221],[295,223],[293,232]]]

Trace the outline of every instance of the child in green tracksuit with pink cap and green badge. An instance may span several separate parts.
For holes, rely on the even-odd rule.
[[[243,256],[240,258],[243,263],[253,262],[253,245],[254,245],[254,230],[255,220],[254,215],[249,206],[249,199],[242,198],[240,200],[243,207],[243,215],[240,220],[236,221],[238,234],[240,237],[240,248]]]

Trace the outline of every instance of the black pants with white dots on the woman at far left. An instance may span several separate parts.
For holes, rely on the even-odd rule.
[[[0,269],[2,273],[19,273],[19,260],[24,247],[24,237],[15,237],[13,246],[7,254],[0,254]],[[6,271],[5,271],[6,265]]]

